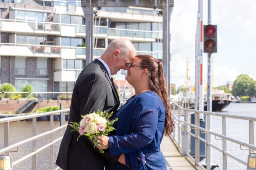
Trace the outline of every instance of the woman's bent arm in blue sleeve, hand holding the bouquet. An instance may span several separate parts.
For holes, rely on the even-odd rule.
[[[102,141],[102,148],[106,149],[109,145],[110,154],[114,156],[134,152],[150,144],[157,129],[158,109],[155,106],[149,107],[142,110],[138,116],[134,132],[124,136],[99,138]]]

